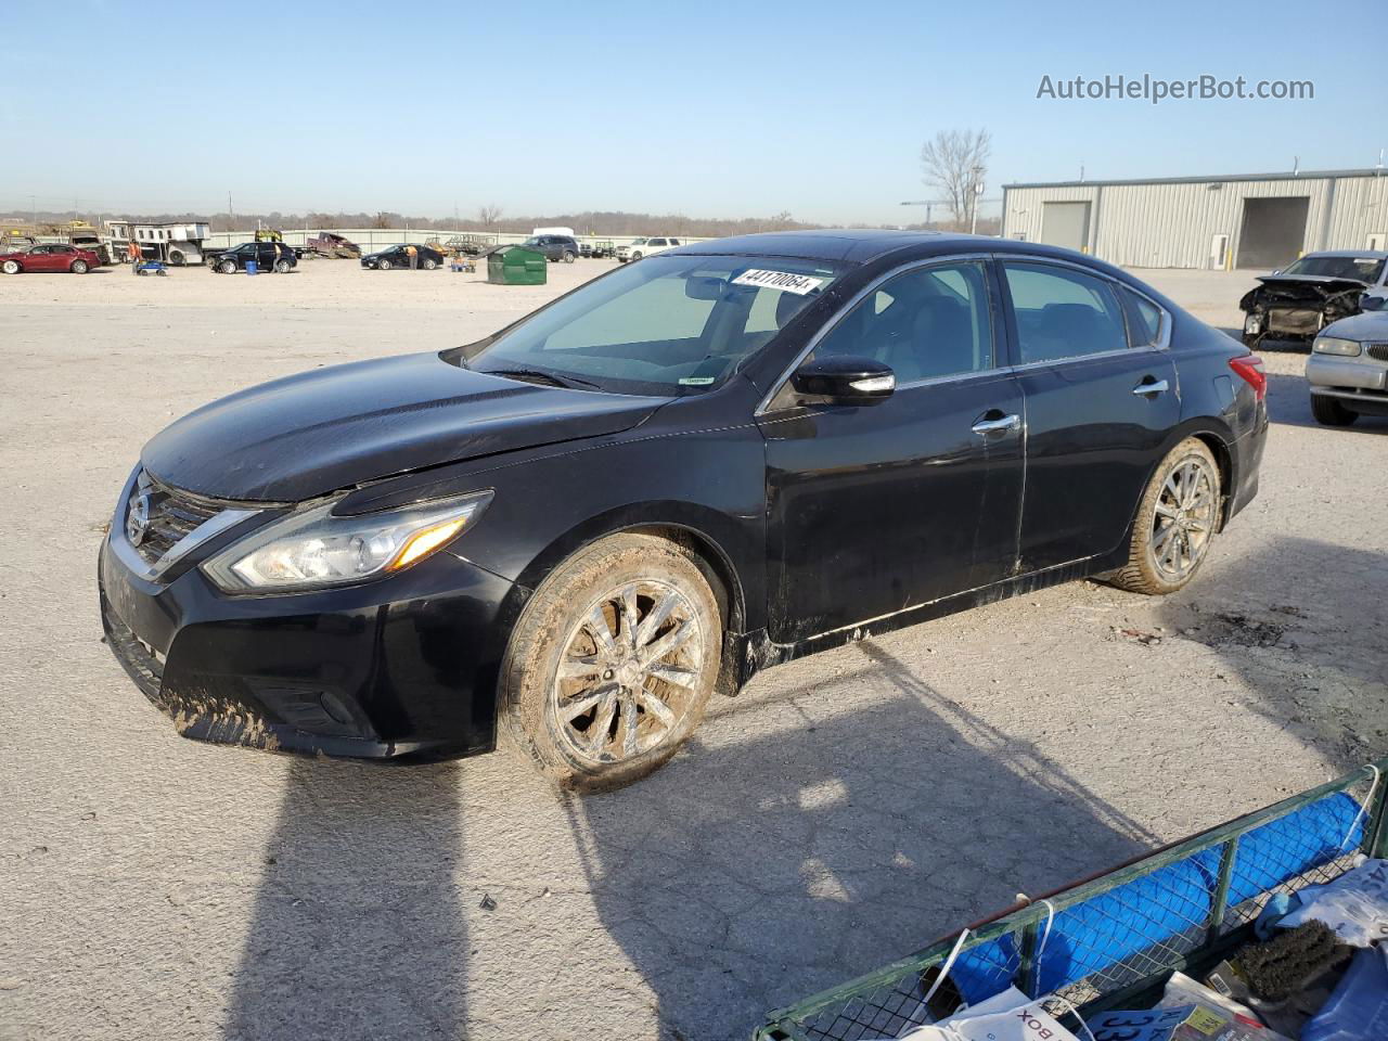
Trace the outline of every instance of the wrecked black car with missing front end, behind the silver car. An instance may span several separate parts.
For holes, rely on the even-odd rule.
[[[1359,314],[1363,301],[1388,297],[1388,253],[1339,250],[1307,253],[1271,275],[1238,301],[1244,344],[1264,339],[1312,340],[1331,322]]]

